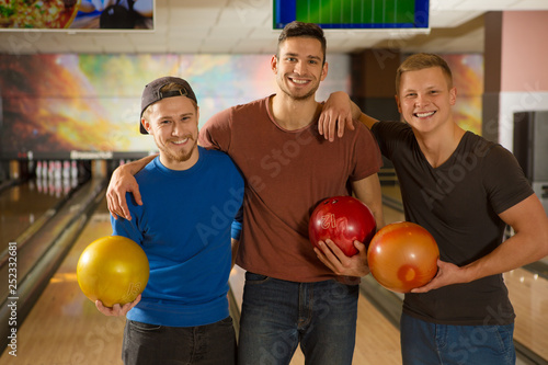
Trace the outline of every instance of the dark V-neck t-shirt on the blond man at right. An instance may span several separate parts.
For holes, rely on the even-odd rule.
[[[505,228],[499,214],[534,194],[514,156],[471,132],[437,168],[409,125],[380,122],[372,132],[396,169],[406,220],[434,236],[442,261],[461,266],[493,251]],[[502,274],[408,293],[403,311],[442,324],[509,324],[515,317]]]

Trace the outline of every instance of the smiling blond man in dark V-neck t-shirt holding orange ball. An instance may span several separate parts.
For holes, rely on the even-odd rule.
[[[515,364],[515,315],[502,273],[548,254],[548,217],[513,155],[455,123],[456,89],[441,57],[409,57],[396,85],[407,123],[377,123],[351,106],[393,163],[406,219],[439,247],[437,275],[406,294],[403,364]],[[334,136],[333,126],[323,130]],[[506,225],[515,235],[504,241]],[[346,258],[327,244],[320,260],[344,272]]]

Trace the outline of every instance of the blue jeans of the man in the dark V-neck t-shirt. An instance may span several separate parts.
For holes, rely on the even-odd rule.
[[[400,322],[403,365],[514,365],[514,324],[446,326],[403,313]]]

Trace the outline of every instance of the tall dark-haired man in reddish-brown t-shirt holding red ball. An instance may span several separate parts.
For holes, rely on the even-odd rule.
[[[340,256],[343,277],[336,266],[317,258],[308,241],[308,220],[320,201],[353,193],[381,227],[380,153],[359,123],[335,141],[318,134],[322,104],[315,94],[328,73],[319,26],[288,24],[271,68],[276,94],[218,113],[199,136],[203,146],[227,152],[247,182],[237,255],[237,263],[248,270],[239,363],[289,364],[300,342],[307,363],[351,365],[358,281],[346,276],[368,274],[365,246],[355,241],[358,254]],[[114,214],[123,215],[117,202],[126,191],[135,191],[118,181],[133,167],[116,171],[111,182],[118,186],[109,190]]]

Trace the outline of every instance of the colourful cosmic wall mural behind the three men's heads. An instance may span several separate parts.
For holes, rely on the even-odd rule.
[[[145,156],[156,150],[139,134],[140,94],[161,76],[193,87],[199,125],[214,113],[275,92],[271,55],[0,55],[0,153],[3,159]],[[457,118],[481,132],[482,56],[448,55],[458,89]],[[350,92],[349,55],[329,55],[317,99]],[[111,153],[111,155],[109,155]],[[122,155],[121,155],[122,153]]]

